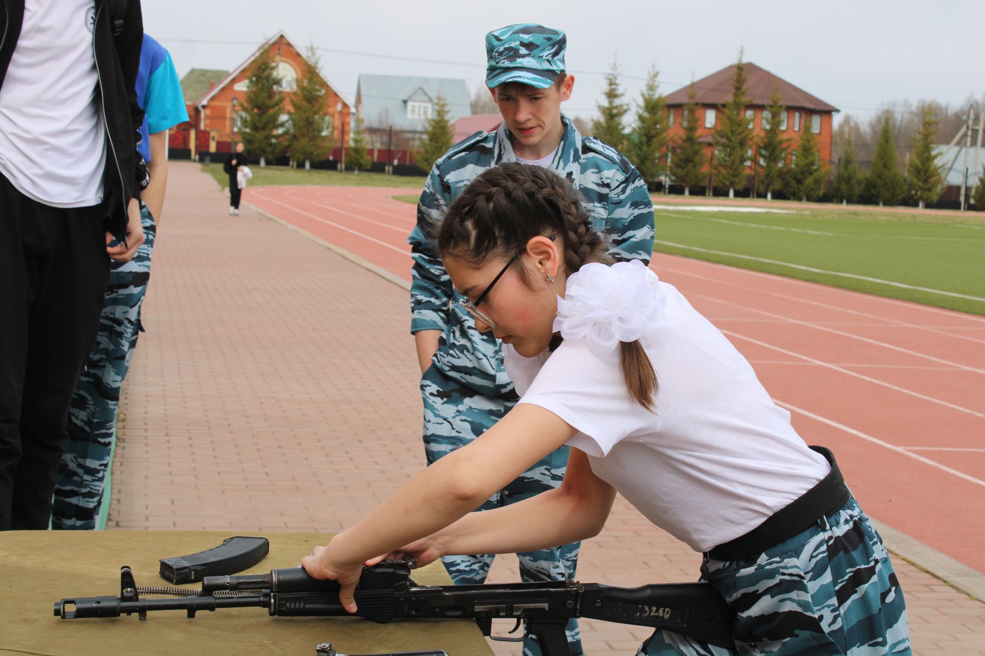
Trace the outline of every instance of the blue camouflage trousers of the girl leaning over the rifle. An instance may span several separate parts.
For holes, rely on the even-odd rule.
[[[755,561],[705,559],[736,613],[736,651],[657,630],[637,656],[910,654],[906,606],[883,540],[854,499]]]

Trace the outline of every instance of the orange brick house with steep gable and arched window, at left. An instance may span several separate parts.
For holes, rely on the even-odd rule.
[[[287,118],[287,112],[293,108],[293,91],[296,89],[297,77],[304,70],[305,59],[285,33],[279,31],[225,76],[220,77],[225,73],[224,71],[192,69],[182,78],[181,88],[185,92],[189,122],[182,124],[178,129],[187,126],[191,132],[187,139],[189,144],[195,143],[197,148],[202,150],[219,152],[230,150],[233,131],[238,133],[238,124],[234,125],[233,121],[233,106],[246,98],[252,64],[268,47],[277,63],[277,74],[282,80],[281,91],[285,93],[283,105],[285,114],[282,117]],[[219,78],[218,82],[217,78]],[[325,93],[328,94],[328,114],[332,121],[332,134],[335,135],[337,143],[343,134],[348,142],[352,103],[324,77],[321,82]],[[194,151],[192,156],[194,157]]]

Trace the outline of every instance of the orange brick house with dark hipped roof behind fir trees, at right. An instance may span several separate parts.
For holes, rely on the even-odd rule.
[[[726,66],[722,70],[694,82],[696,91],[694,102],[697,104],[697,119],[699,121],[698,140],[707,145],[709,157],[712,148],[711,134],[719,125],[718,112],[720,107],[732,95],[732,78],[735,76],[735,69],[735,64]],[[746,97],[751,100],[746,107],[746,116],[753,123],[754,136],[762,135],[762,114],[769,105],[769,96],[772,95],[774,87],[778,88],[781,103],[787,108],[781,118],[780,127],[783,136],[788,140],[788,148],[796,147],[800,141],[802,130],[811,130],[818,138],[821,162],[830,162],[832,120],[834,112],[839,111],[838,108],[753,63],[747,62],[745,64],[745,73],[747,77]],[[669,135],[672,140],[680,139],[684,135],[682,118],[684,107],[688,104],[688,92],[689,87],[684,87],[666,96],[670,123]],[[767,116],[767,125],[768,120]],[[707,165],[705,169],[707,169]],[[747,172],[751,176],[754,175],[754,167],[750,166]]]

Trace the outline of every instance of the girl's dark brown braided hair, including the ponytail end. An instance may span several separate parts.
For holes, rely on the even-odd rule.
[[[610,265],[606,239],[592,226],[591,215],[570,182],[542,166],[505,162],[481,173],[455,199],[432,232],[442,258],[454,257],[471,267],[509,260],[537,236],[557,235],[568,274],[588,263]],[[531,286],[522,261],[520,280]],[[654,408],[657,376],[639,341],[621,342],[626,387],[647,410]]]

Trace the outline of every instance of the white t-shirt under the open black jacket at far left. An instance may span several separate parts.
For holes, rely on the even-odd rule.
[[[102,201],[106,140],[95,21],[93,0],[27,0],[0,87],[0,173],[55,208]]]

